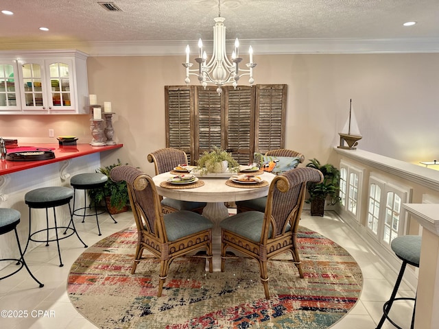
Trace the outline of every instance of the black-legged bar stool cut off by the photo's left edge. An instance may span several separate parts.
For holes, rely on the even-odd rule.
[[[15,273],[17,273],[18,271],[23,269],[23,266],[24,266],[27,269],[27,272],[29,272],[30,276],[32,276],[32,278],[39,284],[39,287],[43,288],[44,284],[41,283],[40,281],[38,281],[35,278],[34,274],[32,274],[32,272],[30,271],[29,267],[27,267],[27,264],[26,264],[25,258],[24,258],[24,254],[21,251],[19,234],[16,232],[16,226],[19,225],[19,223],[20,223],[20,217],[21,217],[21,214],[18,210],[10,209],[10,208],[0,208],[0,235],[11,232],[12,230],[14,230],[16,244],[19,246],[19,252],[20,252],[20,259],[4,258],[4,259],[0,259],[0,262],[6,261],[6,260],[12,260],[12,261],[14,261],[14,263],[16,263],[16,265],[21,264],[21,266],[18,269],[16,269],[14,272],[8,274],[7,276],[2,276],[0,278],[0,280],[3,280],[5,278],[9,278],[10,276],[13,276]]]

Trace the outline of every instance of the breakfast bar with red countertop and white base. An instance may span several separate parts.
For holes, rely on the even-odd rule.
[[[0,160],[0,207],[13,208],[21,213],[21,221],[17,226],[19,239],[27,241],[29,231],[29,207],[25,204],[25,194],[27,192],[35,188],[47,186],[71,188],[70,178],[73,175],[78,173],[95,173],[99,167],[102,167],[102,152],[117,151],[121,147],[123,147],[123,144],[96,147],[86,143],[78,143],[77,145],[21,143],[14,149],[7,149],[9,154],[7,158],[12,159],[15,159],[14,152],[21,153],[23,151],[35,151],[36,153],[31,154],[31,156],[35,154],[38,156],[38,150],[50,150],[54,152],[55,156],[55,158],[47,158],[47,160]],[[50,156],[53,157],[52,154]],[[84,194],[78,193],[76,201],[84,204]],[[67,207],[59,207],[56,211],[58,224],[60,226],[67,226],[70,221],[69,209]],[[34,209],[32,229],[37,231],[45,228],[45,218],[44,209]],[[51,233],[54,234],[54,232]],[[72,240],[72,243],[75,245],[77,241]],[[31,241],[28,250],[33,249],[37,245],[38,243]],[[12,256],[14,256],[16,248],[12,246],[8,239],[0,236],[0,249],[3,256],[13,258]],[[78,243],[77,247],[83,248],[84,245]]]

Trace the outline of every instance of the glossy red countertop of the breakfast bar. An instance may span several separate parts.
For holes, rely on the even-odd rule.
[[[45,164],[51,164],[72,158],[78,158],[80,156],[86,156],[88,154],[99,153],[103,151],[109,151],[110,149],[119,149],[123,147],[123,144],[106,145],[106,146],[91,146],[89,144],[78,144],[71,146],[60,146],[57,144],[41,144],[41,143],[26,143],[25,145],[19,145],[19,147],[39,147],[51,149],[55,153],[54,159],[39,160],[39,161],[8,161],[0,160],[0,175],[6,175],[8,173],[16,173],[26,169],[32,169]]]

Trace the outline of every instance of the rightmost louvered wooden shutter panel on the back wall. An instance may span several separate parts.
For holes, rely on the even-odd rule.
[[[285,147],[287,85],[257,85],[256,88],[255,149],[263,154]]]

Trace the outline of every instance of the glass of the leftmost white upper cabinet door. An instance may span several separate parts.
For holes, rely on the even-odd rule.
[[[15,67],[13,64],[0,63],[0,110],[19,110],[19,83]]]

